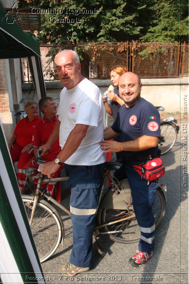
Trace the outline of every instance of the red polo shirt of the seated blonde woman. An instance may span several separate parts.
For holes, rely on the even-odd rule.
[[[27,144],[32,142],[32,134],[35,126],[41,121],[42,119],[37,116],[34,120],[29,122],[27,116],[16,124],[15,130],[13,135],[18,136],[16,138],[16,143],[24,148]]]

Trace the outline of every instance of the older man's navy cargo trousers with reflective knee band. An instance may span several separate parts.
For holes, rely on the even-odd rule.
[[[90,267],[95,214],[105,163],[94,166],[64,164],[71,189],[70,212],[73,224],[73,248],[70,263]]]

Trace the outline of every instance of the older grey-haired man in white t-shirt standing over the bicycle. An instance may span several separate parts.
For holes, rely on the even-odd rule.
[[[81,75],[75,51],[58,53],[55,65],[64,86],[59,118],[48,142],[41,147],[44,154],[59,136],[62,150],[55,160],[43,165],[41,172],[52,178],[64,163],[69,175],[73,249],[70,263],[60,271],[73,276],[88,271],[91,264],[95,213],[106,161],[99,145],[103,140],[103,101],[99,88]]]

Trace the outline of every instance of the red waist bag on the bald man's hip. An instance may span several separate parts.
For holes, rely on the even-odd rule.
[[[141,179],[148,180],[148,184],[150,181],[160,178],[165,173],[161,158],[155,158],[146,163],[133,165],[133,168],[141,176]]]

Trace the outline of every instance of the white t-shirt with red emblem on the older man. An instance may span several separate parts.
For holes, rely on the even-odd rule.
[[[96,85],[85,78],[71,90],[64,87],[57,114],[61,122],[61,148],[76,124],[89,125],[86,136],[75,153],[65,161],[66,164],[91,166],[106,161],[106,154],[99,145],[103,140],[103,101]]]

